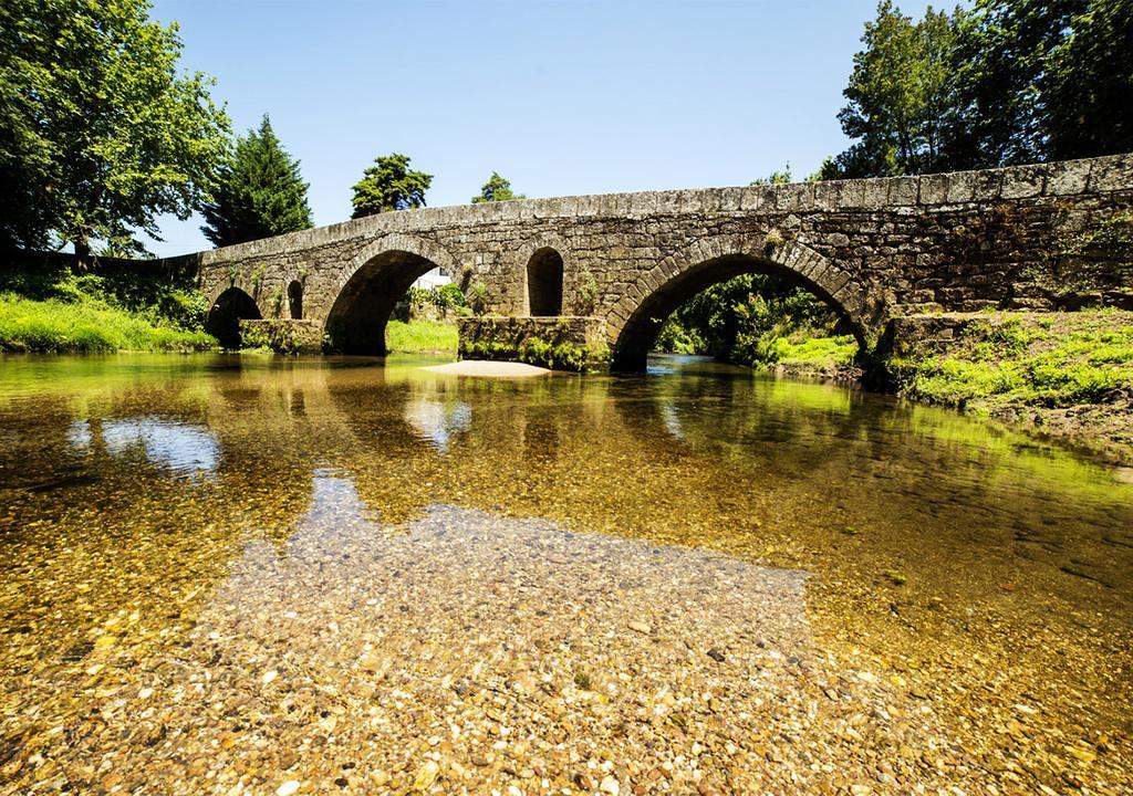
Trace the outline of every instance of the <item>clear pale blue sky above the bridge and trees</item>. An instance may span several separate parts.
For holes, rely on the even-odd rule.
[[[902,2],[919,16],[923,2]],[[845,145],[836,113],[874,0],[356,2],[157,0],[181,63],[216,78],[244,132],[266,112],[310,183],[315,223],[350,217],[380,154],[465,204],[493,170],[528,196],[796,177]],[[208,248],[163,220],[160,255]]]

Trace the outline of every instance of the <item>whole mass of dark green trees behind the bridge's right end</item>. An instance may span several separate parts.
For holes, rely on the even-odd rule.
[[[838,113],[854,140],[823,177],[1133,149],[1133,0],[976,0],[866,25]]]

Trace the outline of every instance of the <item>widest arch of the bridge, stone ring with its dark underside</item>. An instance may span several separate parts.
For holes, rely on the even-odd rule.
[[[644,370],[665,318],[702,290],[744,273],[784,276],[810,290],[843,317],[863,351],[871,346],[869,302],[851,275],[804,242],[769,233],[700,240],[640,276],[607,313],[614,367]]]

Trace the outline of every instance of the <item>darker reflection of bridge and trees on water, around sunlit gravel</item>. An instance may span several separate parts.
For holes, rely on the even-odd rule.
[[[186,361],[95,378],[61,359],[0,385],[6,735],[22,711],[66,713],[58,678],[80,682],[97,639],[136,634],[135,660],[180,643],[230,567],[250,583],[272,551],[286,568],[320,528],[307,549],[332,593],[358,564],[332,567],[337,545],[467,519],[428,520],[444,504],[812,572],[820,653],[902,683],[983,770],[1021,772],[1000,790],[1131,782],[1133,486],[1109,470],[952,412],[675,359],[534,382]],[[170,478],[189,472],[210,478]],[[551,574],[596,577],[587,560]],[[249,592],[266,616],[272,593]]]

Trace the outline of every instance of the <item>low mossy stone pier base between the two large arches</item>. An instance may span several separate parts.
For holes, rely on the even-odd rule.
[[[554,370],[597,370],[610,362],[606,322],[588,316],[461,318],[461,359],[529,362]]]

